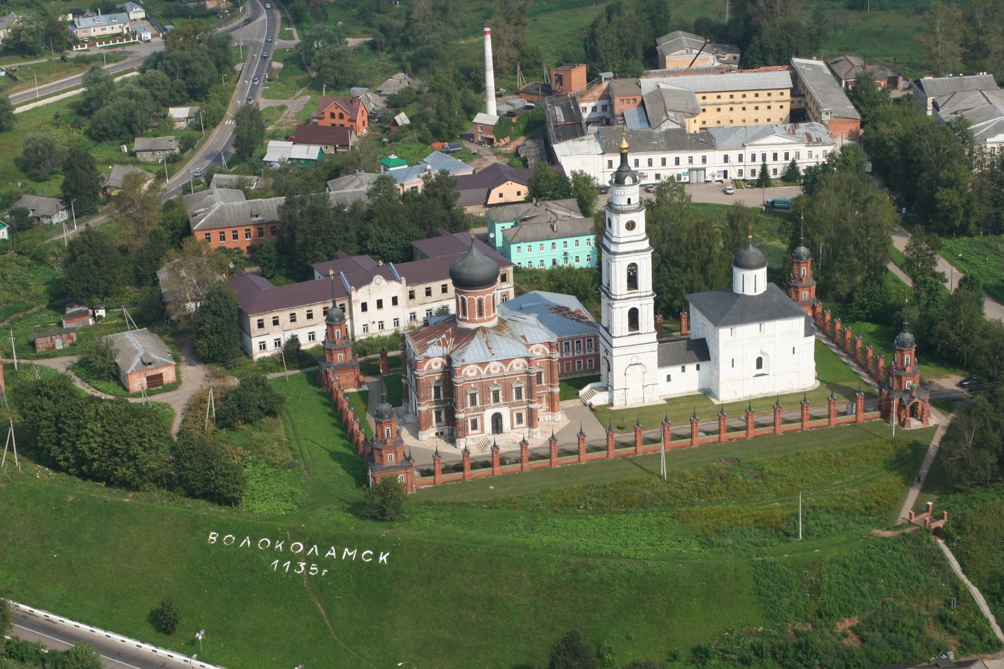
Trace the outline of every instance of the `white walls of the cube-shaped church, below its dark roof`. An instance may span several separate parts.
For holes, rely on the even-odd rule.
[[[716,399],[738,401],[815,386],[815,340],[805,336],[803,318],[731,328],[703,325],[712,332],[707,337],[714,370],[710,391]]]

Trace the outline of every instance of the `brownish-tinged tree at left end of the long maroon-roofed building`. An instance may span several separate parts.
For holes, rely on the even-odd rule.
[[[198,309],[206,294],[221,283],[221,275],[230,262],[221,250],[194,237],[185,239],[182,248],[168,254],[167,272],[161,289],[168,300],[168,313],[181,318]]]

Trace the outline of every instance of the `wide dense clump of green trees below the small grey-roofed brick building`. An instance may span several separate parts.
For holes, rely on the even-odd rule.
[[[22,381],[11,396],[34,451],[67,473],[138,489],[167,471],[168,425],[145,404],[81,395],[62,374]]]

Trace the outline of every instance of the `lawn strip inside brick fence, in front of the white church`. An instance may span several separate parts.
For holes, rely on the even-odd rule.
[[[875,395],[874,391],[860,381],[852,369],[818,340],[815,342],[815,362],[819,386],[806,393],[781,395],[779,401],[785,410],[798,408],[803,396],[808,398],[812,406],[825,406],[826,398],[832,393],[837,398],[837,412],[840,413],[844,404],[854,401],[858,386],[866,397]],[[669,416],[674,425],[685,424],[695,411],[702,420],[713,420],[723,409],[730,417],[742,416],[746,407],[752,404],[758,415],[770,414],[774,410],[775,401],[778,401],[778,398],[761,397],[752,402],[743,400],[715,404],[707,395],[686,395],[667,399],[661,404],[639,408],[611,409],[608,406],[597,406],[596,418],[604,425],[612,424],[615,432],[622,433],[633,431],[635,423],[639,420],[645,429],[655,429],[662,424],[665,416]]]

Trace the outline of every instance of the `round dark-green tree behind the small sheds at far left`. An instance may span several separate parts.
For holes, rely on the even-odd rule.
[[[111,239],[93,228],[69,241],[63,270],[66,293],[84,304],[102,302],[122,286],[126,263]]]

